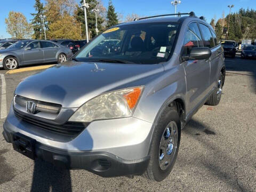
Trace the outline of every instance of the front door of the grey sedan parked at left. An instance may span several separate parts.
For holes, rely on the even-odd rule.
[[[28,44],[23,51],[23,55],[25,64],[41,63],[44,61],[44,52],[39,41]]]

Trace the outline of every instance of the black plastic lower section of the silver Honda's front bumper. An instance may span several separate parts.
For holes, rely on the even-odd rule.
[[[4,130],[4,138],[12,141],[10,132]],[[149,156],[127,161],[107,152],[70,153],[50,146],[35,143],[35,157],[50,162],[62,169],[84,169],[101,177],[141,175],[147,169]]]

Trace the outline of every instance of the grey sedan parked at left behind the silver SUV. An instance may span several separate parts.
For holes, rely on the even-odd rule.
[[[10,70],[36,63],[65,62],[72,55],[68,47],[50,41],[19,41],[8,49],[0,50],[0,68]]]

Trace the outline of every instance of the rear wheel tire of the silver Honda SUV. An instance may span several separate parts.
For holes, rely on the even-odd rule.
[[[223,74],[220,73],[218,82],[220,82],[220,84],[218,83],[218,87],[213,91],[213,93],[210,95],[210,97],[208,98],[208,100],[206,101],[206,105],[210,105],[210,106],[217,106],[220,102],[221,99],[221,93],[222,93],[222,86],[223,86]],[[219,93],[220,91],[220,93]]]

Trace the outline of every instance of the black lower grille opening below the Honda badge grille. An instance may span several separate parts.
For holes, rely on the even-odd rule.
[[[25,115],[20,114],[17,110],[14,109],[14,114],[22,119],[22,121],[25,121],[27,123],[36,125],[44,130],[65,134],[65,135],[77,135],[81,133],[88,125],[89,123],[77,123],[77,122],[67,122],[63,125],[55,125],[51,123],[46,123],[43,121],[39,121],[38,119],[30,118]]]

